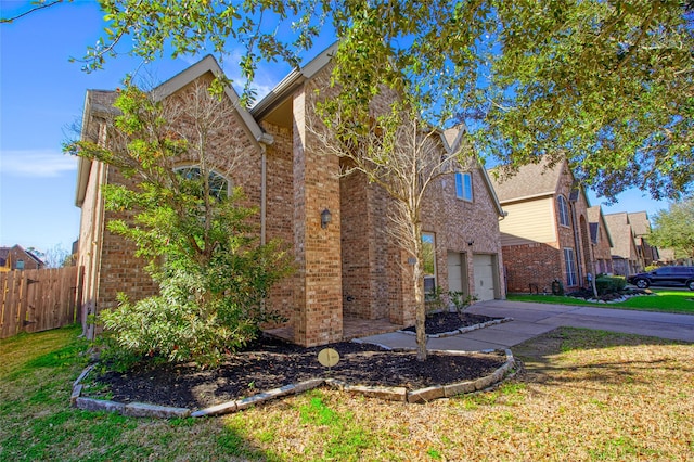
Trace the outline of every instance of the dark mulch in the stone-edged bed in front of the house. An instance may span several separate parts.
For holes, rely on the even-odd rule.
[[[334,348],[340,356],[331,370],[318,362],[318,352],[325,347]],[[375,345],[340,342],[304,348],[264,337],[246,350],[230,355],[217,369],[143,361],[125,374],[106,372],[97,382],[106,385],[103,393],[110,393],[115,401],[198,409],[313,377],[419,389],[488,375],[504,360],[502,352],[429,354],[421,362],[414,352],[386,351]],[[86,393],[89,395],[89,390]]]

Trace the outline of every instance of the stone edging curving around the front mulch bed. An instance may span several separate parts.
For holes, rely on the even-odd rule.
[[[439,352],[447,355],[470,355],[473,351],[452,351],[452,350],[429,350],[430,352]],[[227,401],[220,405],[210,406],[205,409],[191,411],[188,408],[175,408],[169,406],[149,405],[146,402],[124,403],[105,399],[95,399],[82,397],[82,381],[89,375],[95,364],[87,367],[73,384],[73,393],[70,395],[70,405],[88,411],[106,411],[118,412],[123,415],[133,418],[156,418],[156,419],[177,419],[177,418],[202,418],[211,415],[222,415],[232,412],[242,411],[252,406],[259,405],[271,399],[281,398],[287,395],[296,395],[307,392],[319,386],[329,386],[343,392],[359,394],[368,397],[380,398],[389,401],[403,402],[428,402],[438,398],[450,398],[463,393],[472,393],[489,388],[501,382],[509,371],[515,365],[513,352],[510,349],[504,350],[506,355],[505,362],[489,375],[476,378],[474,381],[458,382],[450,385],[437,385],[427,388],[420,388],[409,392],[406,387],[378,387],[365,385],[350,385],[335,378],[310,378],[297,384],[284,385],[268,392],[259,393],[248,398]]]

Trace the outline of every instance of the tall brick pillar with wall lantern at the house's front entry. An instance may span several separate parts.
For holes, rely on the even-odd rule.
[[[323,74],[323,79],[327,75]],[[343,292],[340,262],[339,163],[322,155],[319,141],[307,130],[314,88],[325,87],[320,77],[294,94],[294,341],[324,345],[342,339]],[[332,221],[321,228],[321,213]]]

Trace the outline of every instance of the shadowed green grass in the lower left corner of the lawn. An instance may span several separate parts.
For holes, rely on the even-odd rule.
[[[0,461],[281,460],[222,420],[154,421],[72,408],[72,383],[88,347],[79,333],[66,328],[0,341]]]

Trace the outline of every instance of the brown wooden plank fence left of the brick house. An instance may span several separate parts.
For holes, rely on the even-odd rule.
[[[0,338],[77,322],[82,267],[0,273]]]

